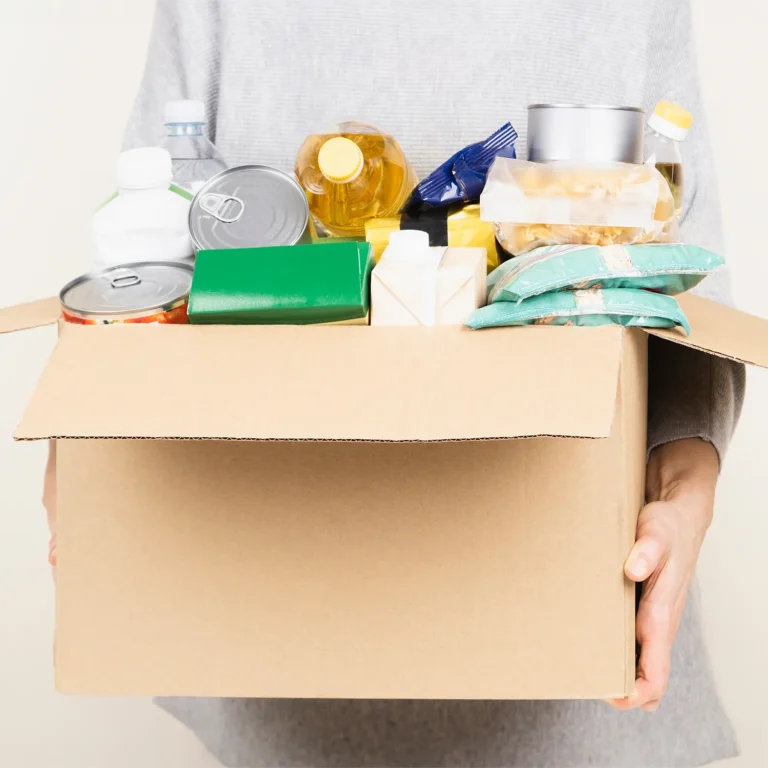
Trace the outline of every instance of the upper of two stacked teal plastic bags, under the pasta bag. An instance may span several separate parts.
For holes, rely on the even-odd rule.
[[[673,296],[722,264],[721,256],[696,245],[547,246],[495,269],[488,276],[488,301],[587,288],[642,288]]]

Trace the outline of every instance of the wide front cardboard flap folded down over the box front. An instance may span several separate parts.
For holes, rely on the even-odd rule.
[[[622,329],[68,326],[17,439],[607,437]]]

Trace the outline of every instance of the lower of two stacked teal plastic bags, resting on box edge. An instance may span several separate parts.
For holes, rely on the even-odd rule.
[[[558,291],[525,301],[500,301],[478,309],[467,325],[474,330],[508,325],[616,325],[642,328],[680,326],[688,318],[672,296],[634,288]]]

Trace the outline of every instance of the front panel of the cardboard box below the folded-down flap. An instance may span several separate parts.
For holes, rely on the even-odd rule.
[[[609,440],[62,441],[57,686],[625,695],[642,479],[624,423]]]

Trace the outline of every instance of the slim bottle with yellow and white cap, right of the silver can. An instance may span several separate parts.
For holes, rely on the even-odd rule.
[[[669,182],[678,219],[683,214],[685,192],[680,145],[687,138],[692,124],[690,112],[669,101],[660,101],[648,118],[645,134],[645,158],[653,158],[661,175]]]

